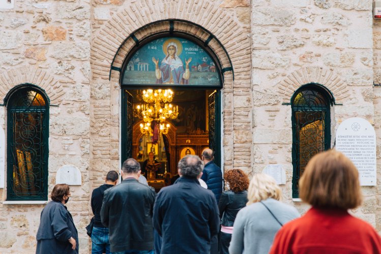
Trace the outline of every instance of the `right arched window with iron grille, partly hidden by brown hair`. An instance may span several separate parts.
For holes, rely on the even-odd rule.
[[[299,198],[299,179],[310,158],[331,147],[331,104],[318,85],[303,86],[292,96],[292,198]]]

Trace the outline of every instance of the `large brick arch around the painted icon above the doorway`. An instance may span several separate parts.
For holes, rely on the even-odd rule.
[[[237,23],[225,10],[221,10],[209,1],[186,0],[165,3],[158,1],[133,2],[124,9],[120,8],[100,28],[94,39],[91,49],[93,79],[108,78],[111,63],[116,68],[122,66],[125,56],[135,45],[132,38],[125,41],[131,34],[141,40],[154,33],[168,31],[168,20],[175,20],[173,31],[182,31],[203,42],[213,34],[217,40],[212,39],[209,46],[217,54],[222,68],[231,66],[219,42],[224,46],[233,62],[236,78],[247,79],[246,75],[250,73],[251,64],[249,28]],[[181,20],[186,20],[188,23],[184,24]],[[192,25],[192,23],[197,25]],[[115,60],[113,60],[114,56]],[[239,63],[235,64],[235,61],[239,61]],[[115,71],[111,72],[111,76],[113,76],[112,74],[119,75]],[[229,75],[231,72],[225,73],[225,78]]]

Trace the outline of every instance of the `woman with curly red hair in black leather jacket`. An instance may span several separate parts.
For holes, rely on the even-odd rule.
[[[237,213],[247,202],[248,176],[240,169],[225,171],[224,179],[229,190],[223,192],[218,203],[221,217],[221,233],[218,244],[220,254],[229,253],[229,243]]]

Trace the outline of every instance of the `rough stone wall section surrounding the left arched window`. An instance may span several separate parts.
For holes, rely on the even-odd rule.
[[[13,1],[12,1],[13,2]],[[47,93],[49,115],[49,187],[65,164],[76,166],[82,185],[71,187],[68,209],[88,253],[90,153],[91,5],[86,1],[16,1],[0,10],[0,101],[19,84],[32,83]],[[6,107],[0,107],[6,130]],[[0,189],[1,201],[6,200]],[[34,253],[43,205],[0,203],[1,253]]]

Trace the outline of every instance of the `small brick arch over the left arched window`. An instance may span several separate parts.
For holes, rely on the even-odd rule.
[[[32,66],[24,66],[0,75],[0,100],[4,103],[7,93],[20,84],[34,84],[42,88],[50,100],[50,105],[60,104],[61,97],[65,94],[60,82],[52,75]]]

